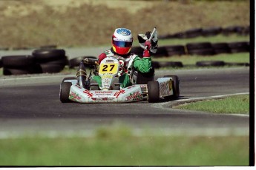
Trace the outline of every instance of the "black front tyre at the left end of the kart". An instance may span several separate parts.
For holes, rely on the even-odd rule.
[[[72,86],[72,83],[70,82],[65,82],[66,80],[75,80],[76,78],[64,78],[62,80],[62,84],[60,84],[60,89],[59,89],[59,100],[62,103],[69,103],[71,102],[69,100],[69,92],[70,92],[70,87]]]

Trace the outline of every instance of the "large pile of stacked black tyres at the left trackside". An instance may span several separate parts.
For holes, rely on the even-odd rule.
[[[65,50],[39,49],[32,55],[7,55],[1,57],[3,75],[23,75],[60,72],[68,64]]]

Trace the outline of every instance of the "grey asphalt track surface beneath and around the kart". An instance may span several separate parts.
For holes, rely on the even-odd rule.
[[[249,135],[249,116],[172,109],[177,102],[249,94],[249,67],[156,72],[178,75],[180,99],[148,103],[61,103],[59,84],[73,75],[0,78],[0,137],[92,135],[100,127],[128,127],[134,134]]]

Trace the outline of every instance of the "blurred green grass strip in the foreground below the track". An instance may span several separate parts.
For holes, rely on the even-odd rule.
[[[248,166],[249,137],[1,139],[0,166]]]

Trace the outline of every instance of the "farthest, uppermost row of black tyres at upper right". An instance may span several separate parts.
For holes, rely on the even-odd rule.
[[[230,27],[206,27],[206,28],[193,28],[179,33],[159,35],[159,39],[170,39],[170,38],[195,38],[198,36],[214,36],[214,35],[249,35],[250,26],[230,26]]]

